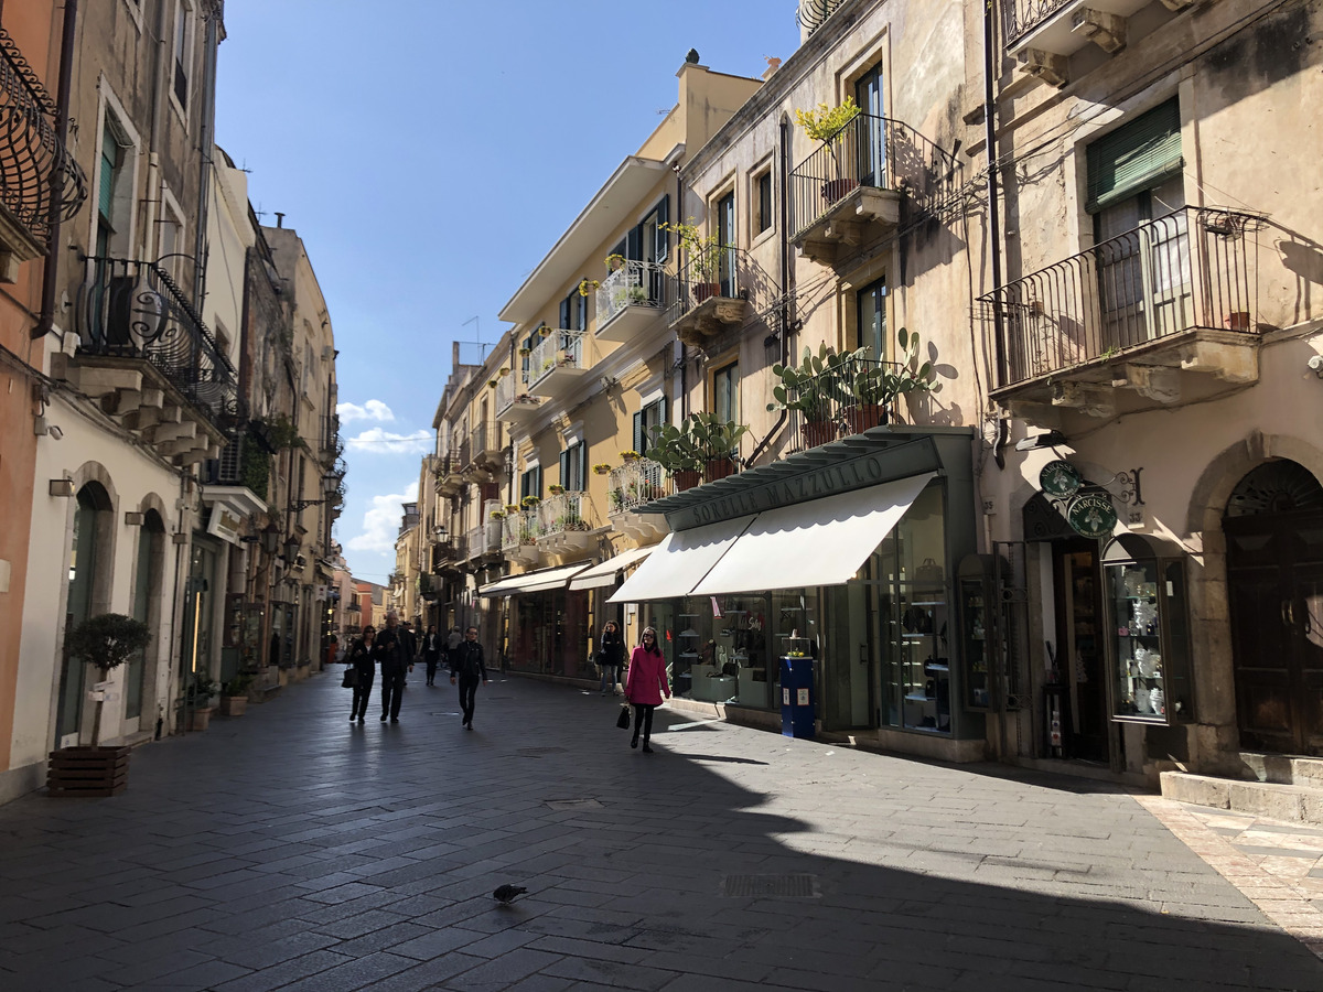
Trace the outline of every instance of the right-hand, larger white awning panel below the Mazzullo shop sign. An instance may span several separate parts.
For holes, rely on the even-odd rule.
[[[935,475],[925,472],[763,511],[693,594],[844,585]]]

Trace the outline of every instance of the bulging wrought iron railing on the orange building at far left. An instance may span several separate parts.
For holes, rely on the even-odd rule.
[[[87,179],[57,138],[56,104],[0,28],[0,201],[42,247],[87,198]],[[57,209],[58,208],[58,209]]]

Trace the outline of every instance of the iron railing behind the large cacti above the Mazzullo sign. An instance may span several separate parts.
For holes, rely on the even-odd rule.
[[[902,369],[892,361],[844,357],[807,384],[786,390],[790,411],[789,451],[807,451],[839,438],[863,434],[890,422],[894,378]]]

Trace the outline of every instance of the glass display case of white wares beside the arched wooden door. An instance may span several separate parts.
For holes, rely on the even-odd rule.
[[[1175,545],[1123,534],[1102,556],[1111,649],[1111,718],[1193,718],[1184,556]]]

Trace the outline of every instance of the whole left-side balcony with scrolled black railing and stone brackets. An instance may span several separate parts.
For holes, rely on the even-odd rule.
[[[234,368],[157,266],[89,258],[74,356],[52,370],[177,466],[216,458],[238,419]]]

